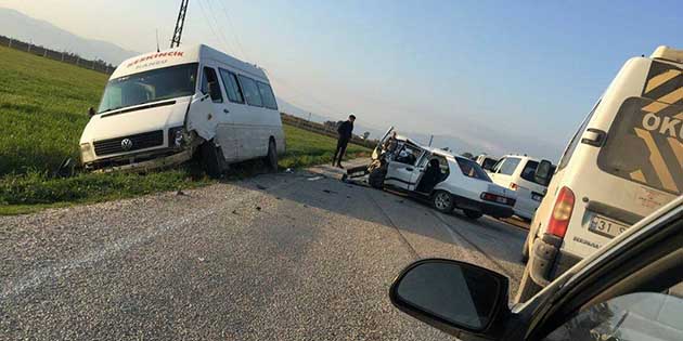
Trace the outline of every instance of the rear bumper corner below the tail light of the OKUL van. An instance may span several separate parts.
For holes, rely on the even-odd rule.
[[[547,286],[581,260],[562,251],[562,238],[551,234],[543,234],[543,237],[533,241],[532,254],[529,258],[529,276],[537,285]]]

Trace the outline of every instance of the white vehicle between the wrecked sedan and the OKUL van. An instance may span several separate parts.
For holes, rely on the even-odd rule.
[[[541,205],[550,181],[534,176],[540,162],[540,159],[526,155],[505,155],[488,171],[494,183],[517,192],[515,215],[529,222]]]

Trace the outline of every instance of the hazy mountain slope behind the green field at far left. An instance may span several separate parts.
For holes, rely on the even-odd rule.
[[[76,36],[48,22],[5,8],[0,8],[0,35],[52,50],[76,53],[87,60],[99,58],[113,65],[140,54],[111,42]]]

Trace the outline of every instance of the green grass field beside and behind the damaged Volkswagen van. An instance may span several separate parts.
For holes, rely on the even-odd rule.
[[[52,178],[62,160],[78,159],[78,140],[88,122],[86,112],[96,107],[106,79],[104,74],[0,47],[0,214],[212,183],[192,166],[146,175]],[[285,126],[285,137],[282,168],[332,160],[334,139],[289,126]],[[349,145],[347,155],[368,152]]]

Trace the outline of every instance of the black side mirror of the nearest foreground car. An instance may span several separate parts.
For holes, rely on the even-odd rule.
[[[507,290],[507,277],[499,273],[427,259],[403,270],[389,298],[403,313],[458,338],[497,338],[510,313]]]

